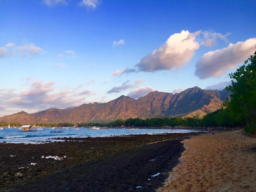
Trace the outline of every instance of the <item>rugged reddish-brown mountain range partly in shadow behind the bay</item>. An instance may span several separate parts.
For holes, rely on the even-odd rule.
[[[199,87],[180,93],[150,92],[133,99],[120,96],[107,103],[89,103],[66,109],[50,108],[28,114],[24,111],[0,117],[9,123],[110,122],[116,119],[152,117],[199,117],[221,108],[230,92],[204,90]]]

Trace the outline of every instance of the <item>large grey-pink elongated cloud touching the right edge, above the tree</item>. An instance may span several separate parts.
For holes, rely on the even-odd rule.
[[[230,43],[228,47],[211,51],[203,55],[196,63],[195,75],[200,79],[219,77],[226,70],[243,63],[255,51],[256,38],[247,39],[236,44]]]

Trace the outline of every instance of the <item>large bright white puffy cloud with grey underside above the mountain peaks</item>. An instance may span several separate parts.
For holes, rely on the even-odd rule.
[[[171,35],[164,45],[143,57],[135,67],[139,71],[158,71],[172,68],[179,69],[189,62],[200,45],[195,40],[201,31],[189,33],[181,31]]]

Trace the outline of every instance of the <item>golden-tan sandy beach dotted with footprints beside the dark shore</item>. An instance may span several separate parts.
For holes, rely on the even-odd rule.
[[[255,192],[256,138],[215,132],[182,141],[185,151],[158,192]]]

